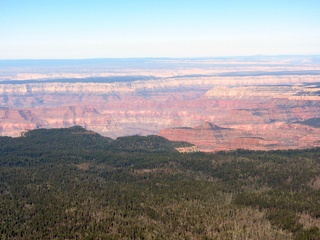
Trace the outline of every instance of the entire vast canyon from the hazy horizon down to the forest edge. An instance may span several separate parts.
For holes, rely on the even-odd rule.
[[[0,135],[80,125],[159,134],[190,151],[320,146],[318,58],[126,61],[2,68]]]

